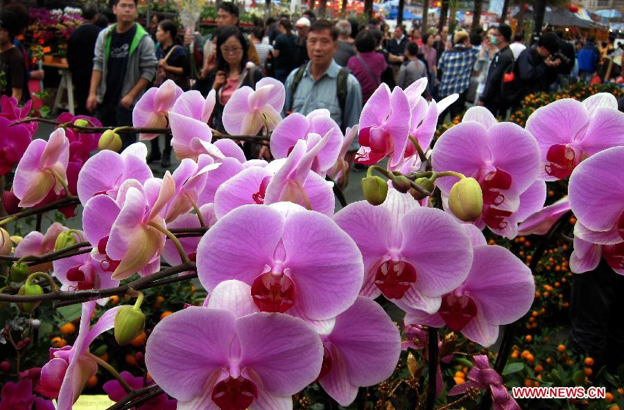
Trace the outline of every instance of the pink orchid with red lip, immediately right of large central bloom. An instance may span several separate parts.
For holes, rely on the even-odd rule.
[[[380,206],[354,202],[333,219],[362,252],[362,296],[383,294],[434,313],[441,296],[468,274],[472,247],[461,225],[448,213],[419,206],[410,195],[391,189]]]

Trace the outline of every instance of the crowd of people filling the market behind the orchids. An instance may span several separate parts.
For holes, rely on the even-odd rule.
[[[294,24],[288,15],[258,19],[246,34],[239,28],[238,6],[229,2],[220,3],[217,28],[207,37],[182,37],[175,21],[159,13],[144,28],[137,23],[135,0],[114,1],[114,24],[107,24],[105,15],[90,4],[83,17],[85,23],[67,46],[76,114],[95,114],[103,125],[132,125],[132,108],[143,93],[173,80],[183,90],[193,88],[204,96],[216,90],[210,123],[224,132],[223,107],[232,93],[254,87],[264,76],[284,82],[282,115],[325,108],[343,131],[358,123],[363,104],[382,82],[390,89],[406,89],[421,78],[428,79],[428,99],[459,95],[440,122],[447,114],[454,118],[464,112],[467,103],[505,118],[528,93],[555,89],[574,78],[604,80],[605,59],[622,52],[622,44],[614,47],[613,39],[596,44],[588,37],[572,44],[560,31],[543,33],[526,46],[523,34],[513,35],[506,24],[471,34],[462,28],[449,33],[448,26],[437,33],[422,28],[421,35],[417,26],[410,33],[401,25],[391,31],[379,19],[362,26],[356,20],[316,19],[311,11]],[[34,73],[16,37],[28,26],[28,11],[10,3],[0,21],[1,92],[24,101],[29,98],[27,79]],[[618,75],[618,69],[612,67],[609,75]],[[123,133],[123,148],[136,139]],[[351,153],[356,149],[354,143]],[[166,167],[170,157],[170,141],[163,152],[158,140],[152,141],[148,161],[162,161]]]

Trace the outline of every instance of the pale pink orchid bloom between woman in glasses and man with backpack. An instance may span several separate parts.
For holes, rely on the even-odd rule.
[[[275,78],[262,78],[255,91],[241,87],[223,108],[223,127],[230,135],[256,135],[265,126],[275,130],[281,122],[284,100],[284,84]]]

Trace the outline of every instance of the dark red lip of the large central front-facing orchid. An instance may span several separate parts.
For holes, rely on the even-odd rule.
[[[261,312],[284,313],[295,304],[295,283],[284,274],[267,272],[254,279],[251,295]]]

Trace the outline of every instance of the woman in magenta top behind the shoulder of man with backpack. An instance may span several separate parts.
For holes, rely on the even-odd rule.
[[[381,84],[381,73],[388,67],[383,54],[376,53],[377,40],[371,30],[361,30],[356,36],[357,55],[349,58],[347,67],[360,82],[362,103],[372,96]]]

